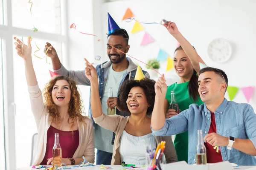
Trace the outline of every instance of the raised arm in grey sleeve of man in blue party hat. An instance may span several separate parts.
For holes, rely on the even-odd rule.
[[[61,64],[61,61],[58,58],[57,51],[55,50],[55,48],[52,47],[52,45],[49,42],[46,42],[44,53],[46,53],[46,51],[47,56],[52,59],[52,66],[55,73],[57,73],[58,75],[70,77],[71,79],[75,80],[79,85],[90,85],[89,79],[87,79],[87,77],[84,75],[84,70],[67,70]]]

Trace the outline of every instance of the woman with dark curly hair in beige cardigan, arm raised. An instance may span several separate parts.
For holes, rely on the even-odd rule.
[[[156,148],[162,140],[166,141],[166,162],[177,161],[171,136],[154,137],[151,132],[151,119],[148,115],[154,107],[155,81],[144,78],[123,82],[119,88],[119,100],[122,110],[128,110],[131,116],[107,115],[102,113],[96,69],[87,60],[86,66],[85,75],[91,83],[93,119],[101,127],[116,133],[111,164],[120,165],[122,161],[127,164],[145,164],[146,147]]]

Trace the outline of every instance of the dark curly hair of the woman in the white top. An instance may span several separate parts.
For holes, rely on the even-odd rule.
[[[147,115],[150,115],[154,108],[154,99],[155,99],[155,91],[154,91],[155,81],[148,78],[143,78],[141,80],[125,80],[119,88],[119,96],[118,99],[120,101],[120,107],[124,111],[128,111],[128,106],[126,104],[126,100],[128,99],[128,94],[131,89],[134,87],[143,88],[143,91],[146,95],[146,99],[148,104],[150,105],[147,110]]]

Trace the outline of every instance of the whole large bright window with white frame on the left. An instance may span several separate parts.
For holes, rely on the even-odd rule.
[[[52,66],[46,62],[46,58],[38,59],[34,56],[34,51],[37,50],[35,42],[40,48],[40,51],[36,52],[38,57],[44,57],[45,42],[50,42],[55,47],[61,61],[65,58],[63,54],[66,54],[62,49],[66,49],[67,37],[61,30],[62,15],[67,12],[67,10],[61,12],[61,9],[67,6],[66,1],[31,0],[32,15],[28,1],[0,0],[1,170],[30,166],[32,135],[37,132],[30,109],[23,59],[16,54],[13,37],[21,39],[23,36],[23,41],[26,43],[27,36],[32,36],[32,59],[41,90],[51,78],[49,69],[52,69]],[[34,27],[33,25],[38,29],[37,33],[29,30]],[[49,57],[48,62],[51,62]]]

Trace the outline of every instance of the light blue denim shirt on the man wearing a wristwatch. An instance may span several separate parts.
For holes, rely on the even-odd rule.
[[[214,112],[217,133],[221,136],[233,136],[239,139],[250,139],[256,146],[256,114],[249,104],[228,102],[227,99]],[[188,163],[195,164],[195,148],[197,145],[197,130],[203,131],[203,138],[208,134],[211,125],[211,113],[205,104],[192,104],[189,109],[166,119],[160,130],[152,130],[154,136],[170,136],[188,131],[189,153]],[[223,161],[238,165],[256,165],[254,156],[239,150],[221,147]]]

